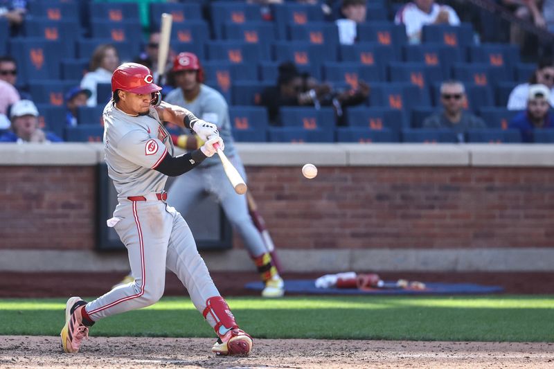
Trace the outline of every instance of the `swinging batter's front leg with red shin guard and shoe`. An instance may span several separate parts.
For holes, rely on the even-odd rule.
[[[193,304],[219,337],[212,351],[224,355],[248,354],[252,348],[251,336],[240,330],[231,309],[217,291],[185,220],[174,208],[168,207],[168,211],[175,217],[166,266],[179,277]]]

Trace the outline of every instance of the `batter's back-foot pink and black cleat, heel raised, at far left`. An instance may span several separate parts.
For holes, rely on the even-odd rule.
[[[89,327],[83,325],[81,309],[87,303],[80,297],[72,297],[65,305],[65,325],[60,332],[62,336],[62,347],[64,352],[76,353],[79,351],[81,342],[89,336]]]

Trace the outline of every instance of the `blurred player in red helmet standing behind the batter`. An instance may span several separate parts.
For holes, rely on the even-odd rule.
[[[233,144],[229,108],[221,93],[202,83],[204,71],[198,57],[193,53],[180,53],[173,63],[172,74],[177,88],[171,91],[165,100],[170,104],[184,107],[195,116],[217,125],[225,142],[226,156],[246,180],[244,166]],[[188,151],[196,150],[203,144],[197,135],[188,134],[176,137],[175,143]],[[247,197],[237,195],[233,190],[219,158],[206,159],[197,170],[178,177],[168,190],[168,194],[171,203],[183,214],[188,213],[190,206],[199,197],[208,195],[217,197],[227,219],[242,237],[265,282],[262,296],[283,296],[283,279],[280,278],[276,265],[271,260],[260,231],[249,215]]]

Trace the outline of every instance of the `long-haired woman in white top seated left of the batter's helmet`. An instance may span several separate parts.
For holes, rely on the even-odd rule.
[[[98,83],[111,83],[111,75],[119,66],[117,49],[110,44],[98,45],[89,64],[89,72],[84,75],[81,87],[91,91],[87,100],[89,107],[96,107],[96,86]]]

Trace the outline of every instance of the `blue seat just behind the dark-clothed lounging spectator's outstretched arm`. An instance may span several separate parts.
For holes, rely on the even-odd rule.
[[[365,66],[355,62],[323,64],[323,78],[327,82],[343,82],[352,89],[358,87],[359,80],[365,82],[384,82],[384,76],[377,66]]]

